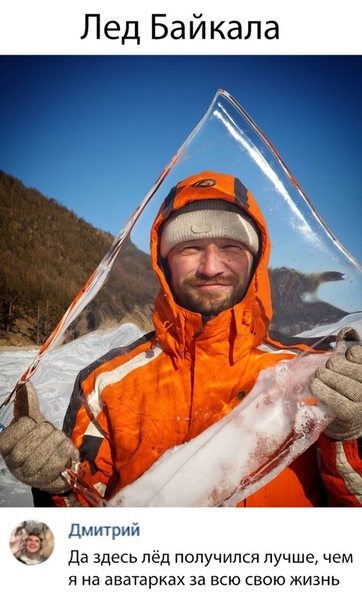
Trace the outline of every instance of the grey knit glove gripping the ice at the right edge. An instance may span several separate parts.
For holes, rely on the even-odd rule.
[[[324,433],[334,440],[354,440],[362,436],[362,345],[358,334],[343,329],[337,336],[337,350],[325,367],[317,369],[309,386],[313,396],[336,415]]]

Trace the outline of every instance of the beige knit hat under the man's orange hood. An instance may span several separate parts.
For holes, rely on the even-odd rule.
[[[179,243],[198,239],[234,239],[258,254],[259,236],[253,220],[239,206],[222,199],[200,199],[171,213],[160,237],[161,258]]]

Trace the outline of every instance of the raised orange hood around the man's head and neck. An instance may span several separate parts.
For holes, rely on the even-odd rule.
[[[159,242],[162,225],[172,212],[188,203],[210,199],[234,204],[254,221],[259,231],[259,253],[243,300],[205,323],[202,315],[182,308],[175,302],[162,266]],[[163,201],[151,229],[151,259],[161,286],[155,301],[153,321],[161,347],[183,358],[192,338],[216,338],[227,344],[231,362],[236,362],[251,348],[260,345],[272,316],[269,255],[270,240],[264,217],[253,195],[238,178],[205,171],[173,187]]]

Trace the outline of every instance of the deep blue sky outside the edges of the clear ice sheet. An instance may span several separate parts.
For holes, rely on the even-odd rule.
[[[224,88],[362,261],[361,56],[3,55],[0,82],[0,169],[114,235]]]

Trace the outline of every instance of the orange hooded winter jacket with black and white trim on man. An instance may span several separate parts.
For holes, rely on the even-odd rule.
[[[243,300],[207,320],[175,302],[159,254],[160,232],[170,213],[206,199],[237,204],[253,219],[260,236]],[[196,437],[240,404],[263,368],[297,354],[268,338],[272,316],[269,253],[262,213],[238,179],[203,172],[170,191],[151,230],[151,259],[160,283],[155,330],[81,371],[65,417],[64,431],[80,451],[78,477],[91,490],[110,498],[165,451]],[[316,447],[240,505],[324,505]],[[323,454],[327,458],[330,447],[326,442]],[[340,505],[339,486],[332,490],[337,492],[334,505]],[[58,504],[64,505],[60,500]]]

